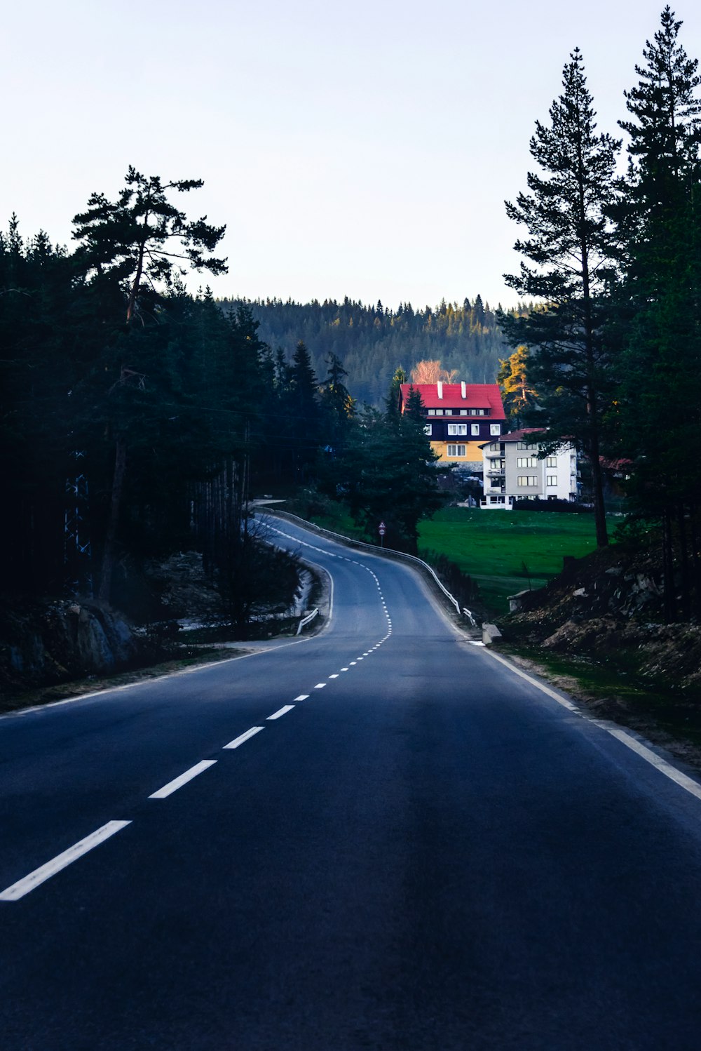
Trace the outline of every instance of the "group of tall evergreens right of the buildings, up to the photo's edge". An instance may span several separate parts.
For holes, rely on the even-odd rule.
[[[571,55],[535,125],[528,191],[507,202],[526,234],[506,280],[540,305],[498,318],[515,348],[501,372],[509,406],[587,454],[600,547],[607,460],[626,465],[632,514],[660,531],[670,620],[701,613],[701,78],[681,25],[665,6],[624,92],[622,174],[622,140],[597,132]]]

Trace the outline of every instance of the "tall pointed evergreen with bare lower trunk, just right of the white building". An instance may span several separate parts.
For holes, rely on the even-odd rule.
[[[525,316],[501,315],[509,343],[531,351],[530,374],[544,412],[544,439],[573,440],[591,463],[597,543],[608,543],[600,463],[606,414],[613,400],[606,292],[616,246],[608,210],[615,199],[620,143],[597,135],[592,96],[578,48],[562,74],[550,124],[536,122],[531,156],[545,173],[528,173],[530,193],[507,202],[528,228],[515,244],[533,266],[505,274],[508,285],[544,305]]]

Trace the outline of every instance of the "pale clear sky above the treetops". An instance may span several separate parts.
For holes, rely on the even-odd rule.
[[[3,14],[0,224],[69,245],[131,164],[205,181],[180,201],[227,224],[217,296],[511,306],[504,201],[526,189],[535,121],[578,46],[599,130],[622,135],[662,6],[24,0]],[[701,58],[701,8],[673,9]]]

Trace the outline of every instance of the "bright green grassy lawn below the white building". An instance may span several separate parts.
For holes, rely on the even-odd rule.
[[[419,554],[446,555],[480,585],[494,615],[508,612],[508,595],[540,588],[596,547],[594,516],[546,511],[445,508],[419,524]]]

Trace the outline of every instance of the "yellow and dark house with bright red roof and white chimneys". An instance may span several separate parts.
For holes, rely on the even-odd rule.
[[[402,384],[400,411],[411,390],[418,391],[426,416],[426,433],[442,460],[482,469],[485,441],[498,439],[506,429],[502,392],[497,384]]]

